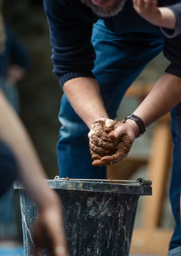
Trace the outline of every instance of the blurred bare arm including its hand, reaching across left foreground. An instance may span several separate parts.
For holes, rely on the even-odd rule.
[[[43,240],[46,235],[53,238],[54,250],[55,247],[60,246],[66,248],[60,200],[54,190],[48,187],[45,181],[47,176],[33,143],[2,92],[0,92],[0,138],[14,153],[18,164],[19,179],[39,209],[38,235],[35,236],[36,249],[42,245],[41,239]],[[61,255],[67,256],[67,253]]]

